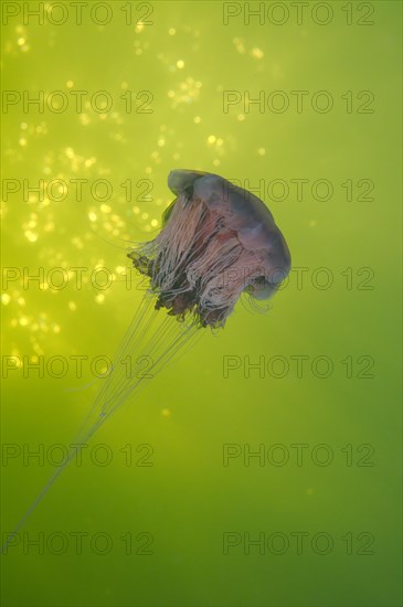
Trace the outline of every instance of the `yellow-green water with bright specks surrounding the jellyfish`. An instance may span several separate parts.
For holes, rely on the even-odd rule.
[[[1,557],[4,606],[400,605],[401,6],[258,7],[3,2],[3,532],[139,305],[125,241],[171,169],[259,188],[294,264],[93,437]]]

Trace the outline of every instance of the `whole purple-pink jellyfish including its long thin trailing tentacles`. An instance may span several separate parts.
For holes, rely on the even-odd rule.
[[[147,289],[114,365],[94,400],[63,464],[53,472],[2,552],[56,478],[96,430],[170,361],[192,345],[201,330],[222,329],[245,292],[271,298],[290,269],[286,241],[267,206],[251,192],[216,174],[173,170],[168,185],[174,200],[162,215],[162,228],[150,242],[128,252]],[[165,313],[162,311],[165,310]],[[146,374],[128,362],[147,361]]]

